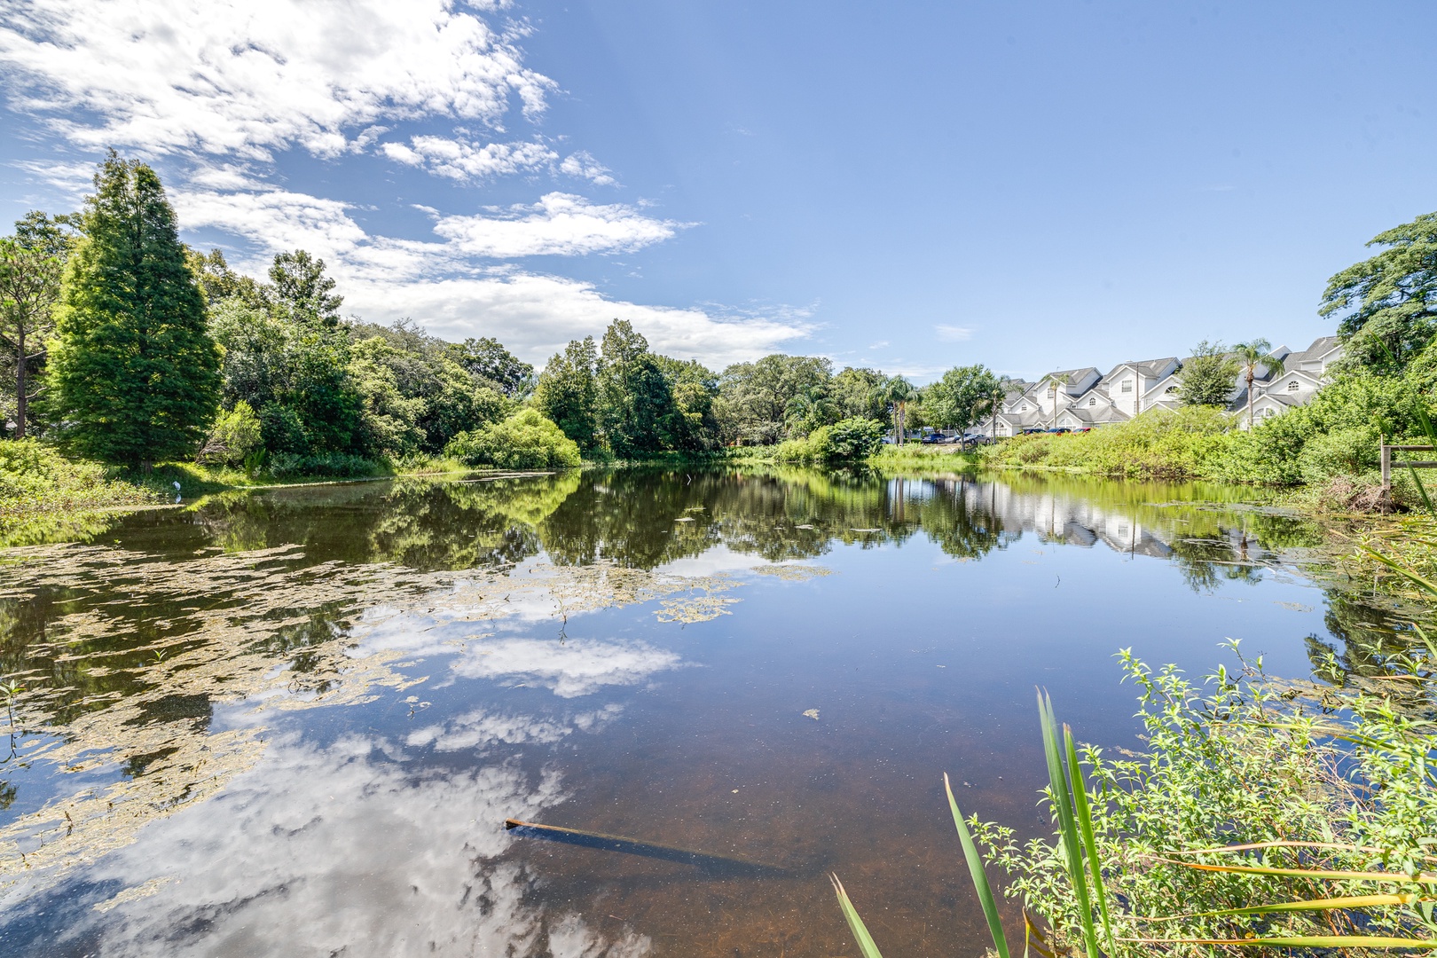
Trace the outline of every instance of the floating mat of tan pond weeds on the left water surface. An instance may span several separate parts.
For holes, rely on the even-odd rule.
[[[299,546],[161,560],[70,544],[9,557],[0,649],[16,682],[16,761],[91,784],[0,827],[0,893],[16,883],[33,893],[217,794],[263,754],[267,710],[362,704],[421,682],[402,668],[410,649],[368,638],[388,622],[540,616],[560,642],[573,616],[619,605],[652,602],[661,622],[706,620],[739,585],[612,563],[456,576],[312,563]],[[37,602],[66,609],[39,633],[27,613]],[[216,728],[220,710],[249,718]]]

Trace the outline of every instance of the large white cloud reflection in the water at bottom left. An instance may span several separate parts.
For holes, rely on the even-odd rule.
[[[650,954],[624,925],[536,903],[525,866],[499,859],[516,840],[506,817],[563,800],[556,774],[513,761],[435,774],[388,741],[290,737],[220,797],[102,859],[89,888],[125,893],[59,938],[116,957],[525,955],[545,935],[556,958]]]

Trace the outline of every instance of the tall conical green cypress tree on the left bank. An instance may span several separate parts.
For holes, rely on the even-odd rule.
[[[86,200],[50,350],[63,440],[149,467],[188,455],[220,396],[220,350],[160,177],[111,151]]]

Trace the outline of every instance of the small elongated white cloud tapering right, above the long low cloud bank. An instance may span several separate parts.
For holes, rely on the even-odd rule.
[[[684,225],[624,204],[599,205],[569,192],[550,192],[497,217],[441,217],[434,231],[470,256],[516,259],[632,251],[667,240]]]

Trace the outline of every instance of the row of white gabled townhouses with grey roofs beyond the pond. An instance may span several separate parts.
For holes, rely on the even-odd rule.
[[[1286,346],[1273,349],[1285,371],[1275,375],[1269,366],[1257,366],[1253,379],[1253,418],[1280,415],[1299,406],[1326,382],[1328,368],[1342,355],[1336,336],[1322,336],[1302,352]],[[1157,408],[1181,405],[1180,386],[1186,361],[1177,356],[1121,362],[1101,375],[1096,368],[1062,369],[1043,376],[1040,382],[1016,381],[1000,409],[974,427],[976,432],[993,437],[1017,435],[1025,429],[1089,429]],[[1239,375],[1233,382],[1227,411],[1242,414],[1242,428],[1247,428],[1247,381]]]

